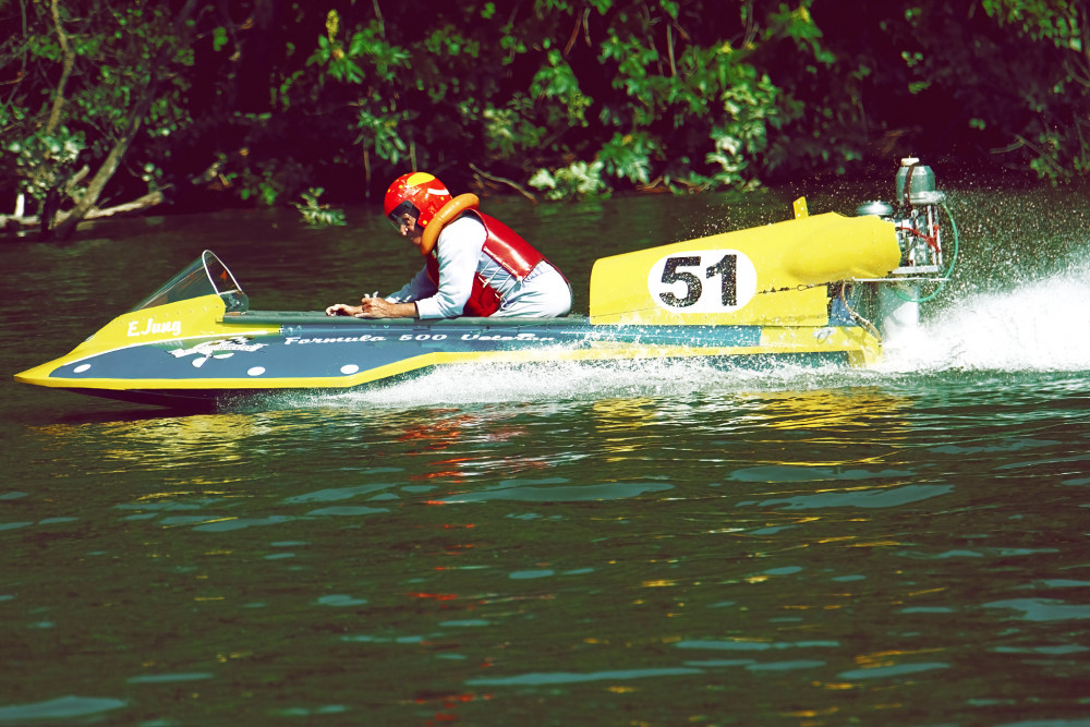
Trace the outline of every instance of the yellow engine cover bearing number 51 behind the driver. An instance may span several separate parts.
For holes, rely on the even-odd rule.
[[[885,277],[899,263],[892,222],[800,217],[603,257],[591,272],[591,322],[823,326],[825,283]]]

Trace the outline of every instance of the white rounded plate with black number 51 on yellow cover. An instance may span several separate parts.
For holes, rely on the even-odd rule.
[[[661,307],[678,313],[729,313],[756,293],[756,268],[737,250],[693,250],[651,267],[647,290]]]

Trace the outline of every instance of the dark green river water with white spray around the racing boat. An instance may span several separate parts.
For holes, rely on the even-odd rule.
[[[585,312],[594,258],[795,192],[487,204]],[[202,415],[10,375],[203,249],[255,308],[392,290],[419,257],[380,215],[0,245],[0,724],[1090,725],[1086,196],[948,192],[954,281],[875,369],[462,368]]]

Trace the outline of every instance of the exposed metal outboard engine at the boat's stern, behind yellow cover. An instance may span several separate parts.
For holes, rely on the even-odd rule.
[[[900,267],[877,284],[877,327],[886,343],[916,330],[920,323],[920,303],[924,283],[944,282],[943,230],[940,208],[945,195],[935,189],[935,173],[916,157],[900,160],[897,169],[896,197],[893,205],[868,202],[860,215],[876,215],[893,222],[900,245]],[[948,213],[946,218],[950,220]],[[955,228],[955,240],[957,231]],[[956,250],[955,250],[956,256]],[[935,291],[937,292],[937,291]]]

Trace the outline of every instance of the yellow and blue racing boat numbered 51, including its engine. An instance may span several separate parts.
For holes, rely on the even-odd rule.
[[[867,366],[942,286],[934,174],[903,160],[897,202],[598,259],[590,311],[560,318],[363,319],[257,311],[211,251],[24,384],[173,408],[347,391],[452,364],[707,361]]]

